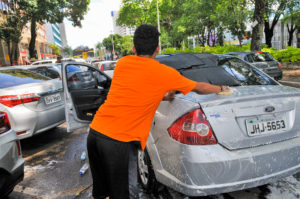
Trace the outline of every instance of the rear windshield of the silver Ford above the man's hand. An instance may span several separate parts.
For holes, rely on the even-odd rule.
[[[218,66],[202,66],[180,70],[179,72],[194,81],[215,85],[277,85],[261,71],[237,58],[226,58]]]

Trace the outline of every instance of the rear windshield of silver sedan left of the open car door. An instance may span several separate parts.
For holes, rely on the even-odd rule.
[[[48,77],[22,69],[0,70],[0,79],[0,89],[50,80]]]

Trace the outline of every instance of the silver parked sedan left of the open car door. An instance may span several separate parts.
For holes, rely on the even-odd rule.
[[[0,111],[20,139],[65,121],[61,80],[15,67],[1,67],[0,79]]]

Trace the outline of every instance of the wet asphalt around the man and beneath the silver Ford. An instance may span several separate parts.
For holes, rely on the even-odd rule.
[[[86,151],[87,129],[67,133],[65,124],[21,141],[25,178],[8,199],[91,198],[91,173],[79,170],[80,156]],[[87,160],[85,160],[87,161]],[[160,186],[157,193],[141,193],[143,199],[188,199]],[[253,189],[193,199],[299,199],[300,174]]]

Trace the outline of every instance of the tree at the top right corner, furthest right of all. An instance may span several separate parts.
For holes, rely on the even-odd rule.
[[[286,24],[289,32],[288,46],[292,46],[293,35],[296,29],[300,29],[300,2],[291,1],[287,5],[287,10],[282,22]]]

